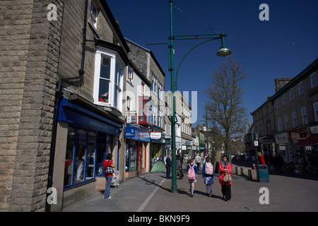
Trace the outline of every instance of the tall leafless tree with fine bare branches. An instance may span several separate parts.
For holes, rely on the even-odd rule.
[[[242,136],[247,128],[247,113],[242,98],[245,93],[242,82],[247,75],[234,57],[227,57],[221,66],[213,71],[211,78],[211,83],[204,88],[208,97],[208,115],[204,117],[216,123],[216,128],[223,137],[225,151],[228,151],[231,138]]]

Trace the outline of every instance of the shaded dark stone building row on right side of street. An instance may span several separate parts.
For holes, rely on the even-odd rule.
[[[317,78],[318,59],[294,78],[276,79],[276,93],[251,113],[267,164],[281,155],[288,169],[318,167]]]

